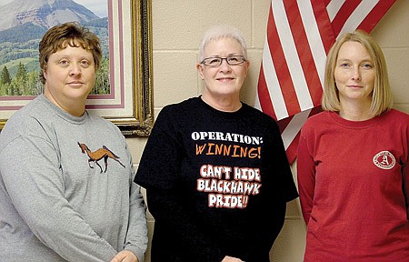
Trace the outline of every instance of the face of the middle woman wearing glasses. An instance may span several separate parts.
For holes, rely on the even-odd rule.
[[[205,46],[205,58],[232,55],[244,55],[242,45],[233,38],[223,37]],[[204,96],[239,97],[249,65],[247,60],[240,65],[228,65],[226,59],[222,60],[222,65],[216,67],[198,64],[197,70],[205,81]]]

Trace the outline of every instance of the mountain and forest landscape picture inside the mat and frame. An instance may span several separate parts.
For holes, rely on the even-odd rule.
[[[100,1],[107,5],[107,0]],[[70,21],[78,21],[100,38],[103,60],[92,94],[110,94],[108,17],[95,15],[85,5],[73,0],[0,0],[0,96],[43,93],[38,44],[49,28]]]

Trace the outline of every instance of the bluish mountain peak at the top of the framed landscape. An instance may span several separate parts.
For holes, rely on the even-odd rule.
[[[88,22],[99,17],[72,0],[15,0],[0,6],[0,31],[31,23],[48,29],[68,21]]]

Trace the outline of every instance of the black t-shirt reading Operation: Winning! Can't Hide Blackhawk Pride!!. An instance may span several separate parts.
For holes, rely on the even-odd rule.
[[[153,261],[269,261],[285,203],[298,196],[273,118],[200,97],[165,106],[135,182],[155,217]]]

